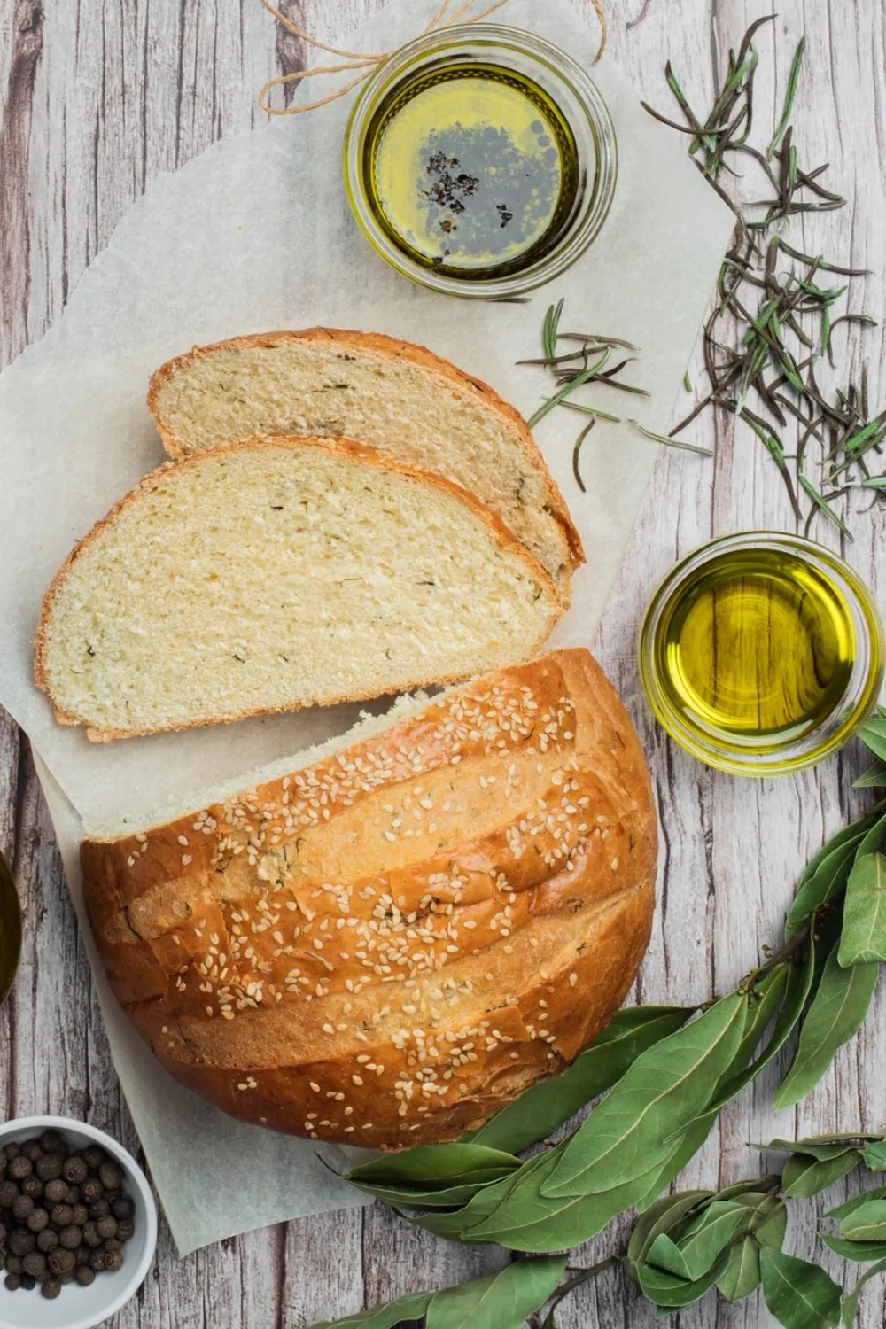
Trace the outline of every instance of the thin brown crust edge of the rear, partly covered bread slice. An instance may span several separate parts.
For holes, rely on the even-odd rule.
[[[575,571],[576,567],[582,566],[584,562],[582,537],[573,524],[566,501],[554,482],[554,478],[547,469],[547,462],[542,457],[538,444],[535,443],[535,439],[533,437],[533,433],[519,411],[505,401],[505,399],[501,397],[494,388],[490,388],[487,383],[484,383],[482,379],[477,379],[474,375],[457,368],[457,365],[452,364],[450,360],[444,360],[441,356],[434,355],[433,351],[428,351],[424,346],[417,346],[413,342],[401,342],[399,338],[387,336],[384,332],[357,332],[349,328],[327,327],[303,328],[302,331],[295,332],[255,332],[247,336],[230,338],[226,342],[214,342],[210,346],[195,346],[183,355],[175,356],[173,360],[167,360],[166,364],[162,364],[151,375],[147,389],[147,408],[157,421],[158,433],[169,456],[178,459],[189,455],[175,437],[173,429],[163,420],[159,405],[161,392],[170,379],[173,379],[182,369],[194,364],[197,360],[202,360],[217,351],[292,346],[298,342],[335,342],[345,350],[368,351],[373,355],[388,356],[392,360],[406,360],[409,364],[414,364],[421,369],[428,369],[429,372],[438,375],[452,387],[461,391],[478,392],[484,404],[487,405],[490,411],[503,416],[509,425],[519,433],[530,460],[535,462],[538,474],[542,477],[542,482],[545,485],[545,508],[555,518],[563,532],[563,536],[566,537],[570,556],[569,571]]]

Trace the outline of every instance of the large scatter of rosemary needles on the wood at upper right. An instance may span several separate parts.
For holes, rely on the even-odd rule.
[[[665,78],[685,124],[644,102],[656,120],[689,136],[689,155],[736,214],[736,231],[720,271],[719,299],[703,335],[708,391],[672,436],[707,408],[739,416],[773,457],[794,514],[805,517],[806,533],[821,514],[851,538],[833,505],[851,490],[867,489],[874,502],[886,492],[886,477],[871,474],[871,462],[877,461],[878,469],[886,444],[886,412],[870,413],[866,367],[861,383],[850,377],[832,396],[822,391],[818,372],[824,363],[836,368],[837,328],[877,324],[853,311],[834,316],[851,280],[865,276],[863,271],[805,254],[784,237],[792,218],[845,206],[845,199],[822,183],[828,165],[812,170],[801,165],[792,117],[802,73],[802,40],[766,149],[749,141],[760,62],[753,39],[773,17],[753,23],[739,52],[729,52],[723,89],[707,118],[692,109],[669,64]],[[745,165],[761,173],[770,197],[740,202],[727,191],[724,174],[744,174]],[[847,280],[830,286],[825,274]],[[809,501],[808,510],[802,498]]]

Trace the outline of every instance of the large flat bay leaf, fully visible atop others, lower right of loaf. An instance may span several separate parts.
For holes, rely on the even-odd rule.
[[[732,1065],[747,1011],[747,995],[733,993],[638,1058],[567,1142],[546,1193],[606,1191],[663,1163]]]

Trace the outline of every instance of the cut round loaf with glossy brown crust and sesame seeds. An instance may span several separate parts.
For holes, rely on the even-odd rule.
[[[307,756],[84,841],[112,987],[173,1075],[242,1120],[456,1139],[562,1071],[634,981],[656,860],[638,739],[567,650]]]

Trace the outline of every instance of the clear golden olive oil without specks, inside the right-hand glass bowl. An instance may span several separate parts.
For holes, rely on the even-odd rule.
[[[740,549],[701,565],[665,607],[655,668],[691,728],[764,751],[840,707],[855,647],[850,606],[821,570]]]

